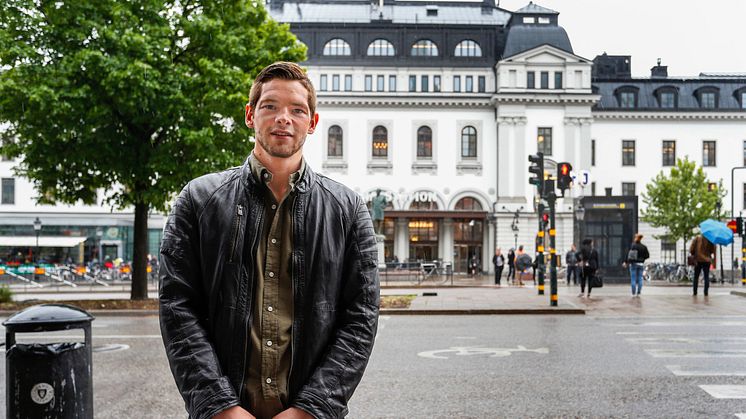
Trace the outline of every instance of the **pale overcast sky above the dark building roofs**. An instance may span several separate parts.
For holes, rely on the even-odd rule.
[[[500,0],[516,11],[529,0]],[[538,0],[558,11],[576,55],[631,55],[632,75],[661,58],[670,76],[746,73],[745,0]]]

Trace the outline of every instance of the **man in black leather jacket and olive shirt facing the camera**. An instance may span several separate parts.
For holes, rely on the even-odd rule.
[[[192,418],[343,417],[362,378],[378,324],[376,241],[360,196],[303,160],[315,105],[300,67],[265,68],[246,108],[252,155],[189,182],[166,222],[161,333]],[[283,281],[277,301],[267,290]],[[255,339],[283,337],[273,316],[287,320],[280,355]],[[252,365],[278,369],[256,377]]]

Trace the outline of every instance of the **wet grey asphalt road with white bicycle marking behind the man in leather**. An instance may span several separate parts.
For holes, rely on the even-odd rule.
[[[186,417],[156,317],[93,325],[94,348],[128,345],[93,355],[96,418]],[[5,394],[4,363],[0,379]],[[4,399],[0,407],[4,416]],[[744,316],[385,316],[349,417],[738,414],[746,414]]]

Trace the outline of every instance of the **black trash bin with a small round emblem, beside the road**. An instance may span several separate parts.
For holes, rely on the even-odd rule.
[[[64,304],[42,304],[6,321],[7,417],[93,418],[91,321]],[[16,343],[16,333],[83,329],[85,342]]]

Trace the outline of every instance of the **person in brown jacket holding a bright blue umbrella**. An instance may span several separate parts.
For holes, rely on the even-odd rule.
[[[733,243],[733,232],[720,221],[705,220],[699,224],[701,235],[697,236],[689,246],[689,253],[694,257],[694,280],[692,281],[693,295],[697,295],[699,273],[705,285],[705,296],[710,288],[710,265],[715,257],[715,245]]]

